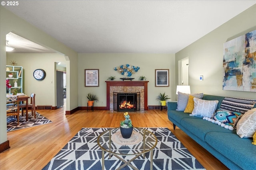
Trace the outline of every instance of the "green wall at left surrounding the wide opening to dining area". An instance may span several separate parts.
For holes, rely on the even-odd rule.
[[[67,110],[78,107],[78,53],[50,35],[0,6],[0,143],[7,141],[6,132],[6,34],[13,32],[30,41],[64,55],[67,65]],[[40,65],[40,63],[38,64]],[[72,83],[70,83],[72,82]],[[54,94],[53,94],[54,95]]]

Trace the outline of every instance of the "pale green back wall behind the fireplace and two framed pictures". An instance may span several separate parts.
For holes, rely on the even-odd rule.
[[[159,93],[166,92],[175,100],[175,55],[174,54],[79,54],[78,55],[78,105],[87,106],[89,92],[99,97],[99,102],[94,106],[106,106],[106,82],[109,76],[116,76],[115,81],[122,81],[124,77],[114,70],[123,64],[139,66],[140,69],[131,78],[138,80],[146,76],[148,82],[148,105],[160,105],[156,100]],[[99,87],[84,87],[84,69],[99,69]],[[155,69],[169,69],[169,87],[155,87]]]

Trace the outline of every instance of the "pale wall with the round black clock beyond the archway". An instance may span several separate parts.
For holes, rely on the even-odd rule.
[[[57,105],[55,62],[65,62],[64,55],[58,53],[7,53],[6,64],[10,61],[16,61],[19,66],[23,67],[23,92],[27,95],[36,94],[36,106]],[[42,81],[33,77],[33,72],[37,68],[42,68],[46,72],[46,78]]]

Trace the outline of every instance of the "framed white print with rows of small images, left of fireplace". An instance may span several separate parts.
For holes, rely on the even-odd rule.
[[[84,86],[99,86],[99,69],[84,69]]]

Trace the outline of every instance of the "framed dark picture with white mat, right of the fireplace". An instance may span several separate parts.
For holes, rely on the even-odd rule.
[[[169,87],[169,69],[155,69],[155,86]]]

